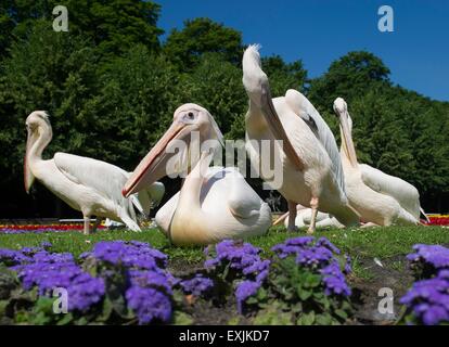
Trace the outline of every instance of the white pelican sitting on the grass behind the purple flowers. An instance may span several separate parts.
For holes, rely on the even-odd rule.
[[[174,123],[156,145],[142,159],[126,183],[123,194],[129,196],[157,179],[181,171],[170,167],[174,142],[191,143],[192,132],[200,143],[218,140],[222,134],[207,110],[184,104],[174,115]],[[179,153],[178,153],[179,155]],[[180,154],[181,160],[191,158],[191,149]],[[157,224],[174,244],[209,244],[229,237],[246,237],[267,232],[271,210],[235,168],[208,168],[213,155],[202,150],[193,169],[185,177],[181,191],[156,214]]]

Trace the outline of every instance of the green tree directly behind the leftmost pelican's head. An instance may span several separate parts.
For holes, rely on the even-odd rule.
[[[47,110],[52,116],[54,139],[46,155],[82,149],[90,129],[84,127],[79,114],[95,90],[95,54],[85,39],[55,33],[44,20],[36,21],[27,40],[12,43],[0,75],[0,146],[8,153],[0,163],[0,175],[5,194],[16,196],[5,213],[26,214],[29,205],[22,178],[25,119],[30,112]],[[49,196],[47,191],[43,195]],[[23,208],[13,205],[21,201],[27,202]]]

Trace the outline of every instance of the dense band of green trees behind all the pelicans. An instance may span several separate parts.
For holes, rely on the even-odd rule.
[[[57,4],[68,9],[68,33],[52,29]],[[2,205],[3,217],[21,215],[31,202],[17,190],[23,187],[24,121],[35,110],[51,115],[54,139],[44,156],[64,151],[128,170],[182,103],[205,106],[227,139],[244,139],[242,34],[195,18],[172,30],[161,47],[159,11],[152,1],[1,1],[0,146],[8,156],[0,163],[0,187],[13,196],[4,203],[8,209]],[[337,141],[332,104],[343,97],[360,162],[414,184],[426,209],[445,208],[449,103],[393,86],[388,67],[365,51],[349,52],[312,80],[300,60],[286,63],[273,55],[262,57],[262,65],[272,94],[283,95],[288,88],[305,92]],[[249,182],[265,195],[259,180]],[[35,200],[46,202],[39,213],[48,216],[51,207],[43,207],[55,197],[38,189]]]

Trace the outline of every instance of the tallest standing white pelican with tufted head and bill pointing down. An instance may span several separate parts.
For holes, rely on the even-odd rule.
[[[345,224],[358,224],[359,217],[349,206],[344,184],[338,147],[332,131],[313,105],[298,91],[271,99],[267,75],[260,67],[257,46],[243,55],[243,85],[249,97],[246,113],[246,150],[254,166],[264,163],[254,143],[282,140],[283,151],[275,150],[282,160],[283,180],[279,192],[288,202],[288,230],[294,230],[296,204],[311,207],[309,233],[315,231],[318,209],[329,213]],[[261,147],[261,144],[258,145]],[[264,177],[270,181],[270,177]]]

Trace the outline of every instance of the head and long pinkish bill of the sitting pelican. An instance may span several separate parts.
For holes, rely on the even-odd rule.
[[[185,166],[170,165],[170,158],[177,155],[183,160],[192,159],[189,146],[200,145],[206,140],[218,140],[220,144],[223,143],[221,131],[210,113],[191,103],[178,107],[171,126],[129,177],[121,191],[123,195],[128,197],[165,176],[181,172]]]

